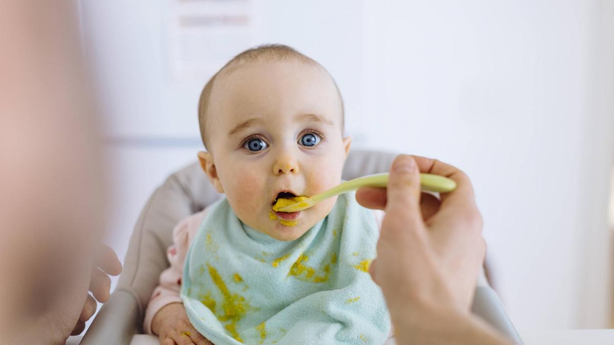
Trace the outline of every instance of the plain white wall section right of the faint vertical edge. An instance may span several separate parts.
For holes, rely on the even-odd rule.
[[[614,123],[593,93],[611,90],[611,63],[596,64],[612,61],[612,31],[598,26],[611,6],[365,4],[368,145],[470,174],[495,285],[519,328],[607,326]]]

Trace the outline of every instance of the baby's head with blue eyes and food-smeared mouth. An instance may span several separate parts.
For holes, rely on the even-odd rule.
[[[204,87],[198,104],[208,152],[201,166],[242,222],[281,241],[299,238],[336,198],[293,214],[278,196],[313,196],[341,182],[351,144],[343,100],[316,61],[284,45],[246,50]]]

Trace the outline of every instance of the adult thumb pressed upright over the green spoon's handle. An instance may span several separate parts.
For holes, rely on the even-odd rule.
[[[422,220],[420,193],[416,161],[410,155],[398,155],[392,162],[388,178],[386,214],[392,212],[406,220]]]

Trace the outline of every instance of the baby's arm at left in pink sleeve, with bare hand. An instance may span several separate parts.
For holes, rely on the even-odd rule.
[[[146,333],[160,336],[162,344],[166,339],[177,344],[209,344],[190,324],[179,296],[185,256],[204,215],[205,211],[191,215],[174,228],[173,245],[166,251],[171,266],[160,274],[160,285],[147,304],[143,328]]]

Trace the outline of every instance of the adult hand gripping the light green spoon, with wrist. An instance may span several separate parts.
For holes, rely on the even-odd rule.
[[[421,193],[419,172],[453,179],[457,188],[438,201]],[[400,155],[392,163],[388,187],[361,188],[356,199],[386,211],[370,273],[386,298],[397,343],[502,341],[470,314],[486,246],[464,172],[437,160]],[[473,337],[482,331],[490,338]]]

